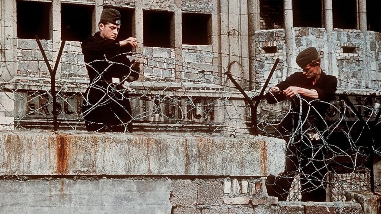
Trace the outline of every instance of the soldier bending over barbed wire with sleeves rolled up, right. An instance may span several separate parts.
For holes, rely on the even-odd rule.
[[[301,51],[296,63],[303,72],[293,73],[270,88],[266,95],[269,103],[290,98],[292,107],[277,130],[287,142],[286,170],[280,177],[269,177],[266,185],[269,195],[278,196],[280,201],[287,200],[293,177],[300,173],[301,200],[325,201],[324,177],[328,163],[320,138],[326,126],[327,103],[337,90],[337,79],[323,72],[316,48]]]

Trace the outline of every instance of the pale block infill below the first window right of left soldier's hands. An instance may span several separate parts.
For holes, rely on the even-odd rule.
[[[144,47],[143,54],[145,80],[161,81],[174,78],[174,69],[178,64],[174,48]]]

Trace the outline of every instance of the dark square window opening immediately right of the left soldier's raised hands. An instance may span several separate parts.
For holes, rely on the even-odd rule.
[[[144,46],[171,47],[173,12],[143,10]]]

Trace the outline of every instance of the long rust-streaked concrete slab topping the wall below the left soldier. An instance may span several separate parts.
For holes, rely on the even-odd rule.
[[[283,140],[263,136],[0,131],[0,175],[267,176]]]

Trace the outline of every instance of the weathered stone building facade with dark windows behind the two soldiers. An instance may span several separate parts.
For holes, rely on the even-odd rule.
[[[52,67],[58,55],[61,40],[67,39],[56,75],[56,79],[61,82],[58,86],[61,87],[61,91],[84,91],[85,85],[82,83],[86,83],[88,79],[79,38],[96,32],[102,9],[111,7],[122,11],[122,21],[125,25],[122,25],[123,35],[138,38],[139,48],[136,50],[136,57],[143,62],[142,77],[141,81],[136,81],[131,87],[142,93],[161,94],[165,88],[163,93],[165,96],[169,96],[168,94],[179,96],[184,94],[182,91],[193,89],[195,91],[193,97],[208,96],[211,100],[226,97],[224,93],[228,93],[233,105],[242,105],[240,94],[235,91],[230,80],[227,80],[226,71],[230,71],[238,83],[253,96],[262,88],[276,58],[280,59],[280,63],[272,76],[270,86],[298,71],[295,63],[297,53],[308,46],[315,46],[320,51],[323,70],[338,77],[339,93],[364,96],[370,93],[379,94],[381,88],[380,18],[378,11],[373,9],[379,6],[379,3],[372,0],[354,2],[352,6],[357,9],[352,15],[356,18],[353,24],[356,29],[339,29],[334,28],[336,22],[340,23],[340,20],[335,20],[336,14],[342,12],[335,7],[336,0],[314,2],[317,2],[315,5],[320,6],[314,10],[320,11],[320,13],[314,13],[317,14],[315,18],[298,12],[299,9],[308,8],[303,5],[303,1],[299,0],[147,0],[142,2],[6,0],[1,5],[1,77],[6,83],[12,83],[10,84],[12,86],[6,86],[11,91],[17,89],[22,94],[21,96],[26,96],[28,89],[33,91],[37,87],[35,83],[28,83],[29,80],[42,81],[50,76],[33,36],[36,33],[43,38],[42,45]],[[348,4],[351,5],[353,2]],[[293,8],[293,5],[300,8]],[[26,10],[27,8],[34,10]],[[40,18],[30,21],[28,11],[37,11]],[[77,13],[77,19],[72,19],[70,14],[72,12]],[[29,13],[32,14],[32,12]],[[159,21],[155,22],[155,19]],[[299,21],[300,19],[304,19],[304,22]],[[197,24],[189,20],[197,21]],[[42,24],[36,25],[36,22]],[[163,42],[156,41],[155,43],[156,35],[152,35],[149,30],[155,29],[155,25],[159,22],[162,25],[160,29],[164,30],[157,36],[164,39],[162,39]],[[195,26],[192,26],[192,23]],[[35,30],[37,28],[40,30]],[[189,29],[198,30],[197,33],[194,32],[193,40],[182,34],[184,31],[188,35]],[[26,82],[19,83],[20,81]],[[24,91],[21,91],[18,85],[22,85]],[[43,84],[39,89],[42,88]],[[65,95],[62,99],[70,102],[67,97],[73,96],[72,94]],[[136,97],[139,96],[136,95]],[[156,98],[146,96],[146,98],[133,100],[134,114],[144,115],[136,118],[137,124],[141,124],[136,127],[142,130],[149,127],[153,120],[166,124],[166,127],[173,127],[173,121],[180,120],[184,123],[192,121],[194,124],[213,123],[217,126],[234,126],[239,130],[238,133],[246,130],[242,122],[237,122],[245,120],[242,112],[226,119],[229,107],[225,104],[223,104],[225,110],[222,110],[221,106],[213,108],[214,115],[219,115],[213,119],[206,115],[203,115],[205,120],[194,118],[192,115],[197,115],[197,111],[188,115],[189,117],[181,115],[174,119],[168,118],[171,113],[166,110],[166,108],[171,109],[172,105],[158,107],[159,112],[164,112],[163,114],[166,112],[167,115],[158,117],[154,115],[155,111],[152,109],[158,109],[155,107],[155,101],[163,98],[160,96]],[[379,102],[376,99],[372,102]],[[210,101],[203,98],[193,101],[193,103],[197,102],[209,103]],[[21,108],[19,103],[16,102],[13,107],[12,104],[10,105],[10,109],[2,111],[4,121],[10,121],[11,117],[15,116],[21,124],[27,124],[27,120],[38,118],[24,110],[28,107],[23,106],[23,110],[19,110]],[[33,103],[33,105],[36,104]],[[74,103],[70,107],[80,109]],[[189,112],[186,107],[181,110]],[[246,112],[247,110],[243,110],[244,114]],[[67,120],[81,117],[78,112],[75,112],[75,117],[63,114],[61,118]],[[220,131],[229,133],[226,129]]]

